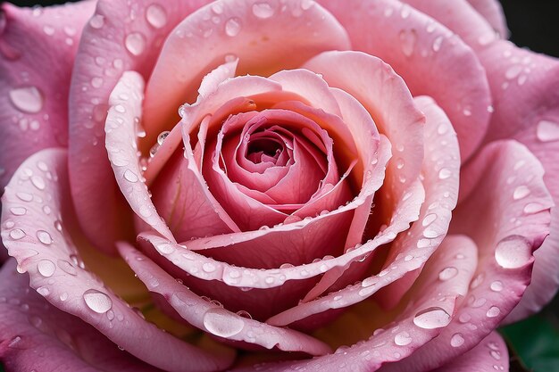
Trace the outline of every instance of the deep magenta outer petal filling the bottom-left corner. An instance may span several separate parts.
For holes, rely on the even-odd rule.
[[[15,260],[0,270],[0,360],[11,371],[159,371],[29,291],[29,276],[15,271]]]

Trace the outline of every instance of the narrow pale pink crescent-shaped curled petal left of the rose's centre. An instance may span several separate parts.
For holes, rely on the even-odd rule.
[[[105,147],[116,182],[132,211],[154,230],[174,240],[150,200],[138,159],[136,121],[142,117],[143,91],[144,80],[138,72],[126,71],[122,74],[109,97],[110,108],[104,127]]]

